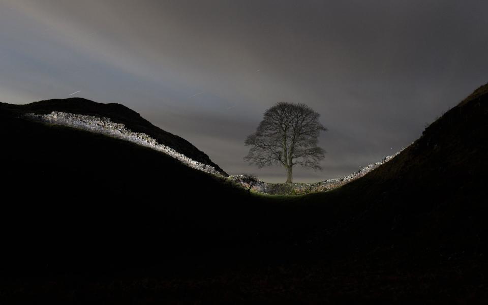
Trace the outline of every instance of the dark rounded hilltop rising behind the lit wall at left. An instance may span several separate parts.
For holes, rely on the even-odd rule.
[[[174,150],[178,151],[178,153],[184,154],[185,156],[198,162],[211,165],[224,174],[224,176],[227,176],[227,173],[225,173],[223,169],[212,162],[205,153],[200,151],[190,142],[154,126],[149,121],[142,118],[139,113],[127,108],[124,105],[115,103],[102,104],[82,98],[69,98],[46,100],[26,105],[11,105],[2,103],[0,104],[0,107],[21,112],[33,112],[39,114],[47,114],[51,113],[52,111],[61,111],[109,117],[116,123],[125,124],[127,128],[134,132],[145,133],[155,138],[159,143],[173,148]]]

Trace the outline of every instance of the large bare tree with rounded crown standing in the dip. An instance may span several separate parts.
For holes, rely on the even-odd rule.
[[[320,131],[327,129],[319,122],[320,114],[304,104],[280,102],[264,112],[255,133],[248,136],[251,146],[244,160],[259,168],[281,164],[287,173],[286,183],[293,180],[293,166],[321,170],[325,151],[318,147]]]

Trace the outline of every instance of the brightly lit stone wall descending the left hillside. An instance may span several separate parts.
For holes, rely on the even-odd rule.
[[[222,174],[215,167],[192,160],[185,155],[177,153],[177,151],[169,146],[159,144],[156,139],[151,138],[144,133],[132,132],[131,130],[127,129],[124,124],[113,123],[110,118],[107,117],[72,114],[58,111],[53,111],[50,114],[26,113],[24,114],[24,117],[45,123],[73,127],[76,129],[86,130],[89,132],[99,133],[133,142],[141,146],[161,151],[162,153],[165,153],[166,155],[169,155],[192,168],[222,177]]]

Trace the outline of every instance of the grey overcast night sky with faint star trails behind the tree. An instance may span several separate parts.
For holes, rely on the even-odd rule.
[[[320,181],[409,145],[488,82],[486,12],[485,0],[0,0],[0,101],[80,90],[266,181],[284,169],[249,166],[244,140],[273,104],[305,103],[327,154],[294,181]]]

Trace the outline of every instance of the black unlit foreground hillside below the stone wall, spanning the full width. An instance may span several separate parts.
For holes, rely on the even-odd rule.
[[[296,197],[2,108],[0,300],[488,300],[488,84],[390,162]]]

